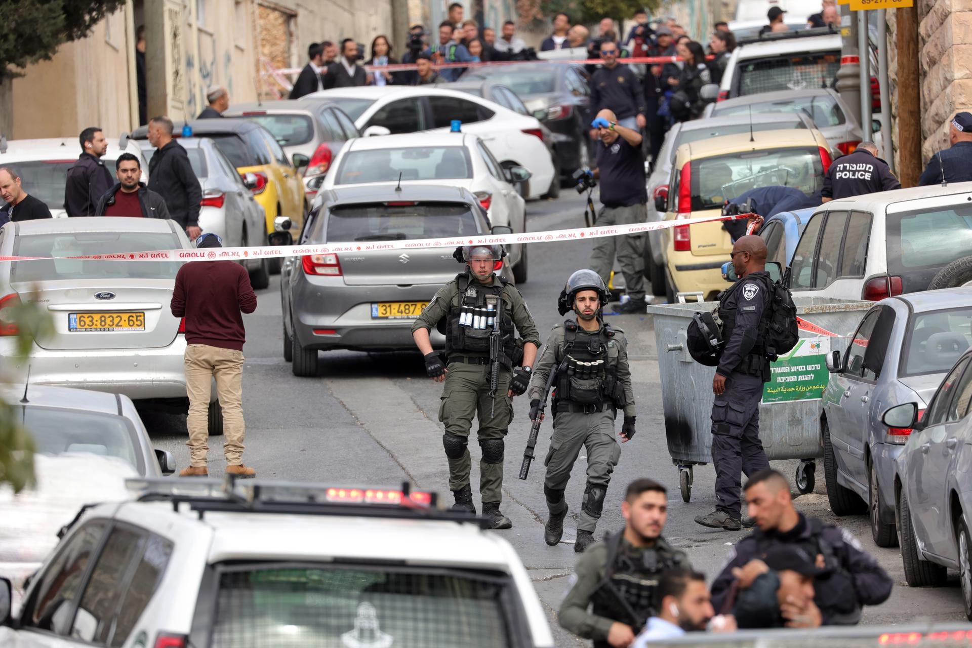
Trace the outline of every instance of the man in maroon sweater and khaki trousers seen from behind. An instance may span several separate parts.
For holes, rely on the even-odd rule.
[[[197,248],[222,248],[220,237],[204,233]],[[257,310],[257,295],[243,266],[233,261],[191,261],[179,268],[172,293],[172,315],[186,318],[186,390],[189,392],[190,466],[180,477],[209,474],[206,452],[212,380],[223,408],[226,473],[254,477],[243,465],[243,343],[240,313]]]

